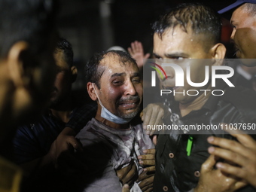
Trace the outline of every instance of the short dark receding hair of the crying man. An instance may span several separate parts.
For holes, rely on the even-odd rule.
[[[95,83],[100,89],[99,80],[105,71],[104,67],[99,67],[102,59],[106,56],[117,56],[121,65],[126,65],[126,63],[133,63],[137,66],[136,60],[133,59],[128,53],[122,50],[109,50],[103,51],[101,53],[95,53],[87,62],[85,66],[85,76],[86,81]]]

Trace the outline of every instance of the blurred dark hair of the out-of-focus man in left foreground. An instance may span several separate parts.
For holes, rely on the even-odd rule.
[[[45,52],[56,18],[54,0],[0,1],[0,56],[17,41],[27,41],[32,54]]]

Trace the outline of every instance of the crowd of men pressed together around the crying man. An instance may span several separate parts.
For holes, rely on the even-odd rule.
[[[256,191],[254,130],[147,128],[255,128],[256,1],[237,0],[219,12],[201,3],[173,7],[153,25],[152,54],[134,41],[127,51],[102,50],[87,61],[91,101],[83,102],[72,93],[78,69],[72,44],[56,29],[58,8],[55,0],[0,1],[0,192]],[[227,11],[233,11],[230,38],[241,59],[233,66],[235,86],[227,79],[193,86],[204,82],[207,67],[224,65],[220,14]],[[150,56],[160,66],[176,61],[193,82],[177,86],[178,74],[163,65],[159,87],[199,94],[143,106],[142,69]],[[212,95],[214,89],[223,94]]]

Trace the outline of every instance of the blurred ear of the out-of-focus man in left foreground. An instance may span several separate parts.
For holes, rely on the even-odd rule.
[[[29,49],[26,41],[18,41],[8,52],[7,62],[11,80],[15,87],[26,86],[30,82],[31,75],[26,75],[26,58],[23,54]]]

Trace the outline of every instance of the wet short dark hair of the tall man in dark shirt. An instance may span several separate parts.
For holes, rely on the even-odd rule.
[[[152,28],[162,38],[166,29],[180,26],[184,32],[191,29],[193,35],[205,35],[207,41],[221,41],[221,17],[212,8],[200,3],[177,5],[157,20]]]

